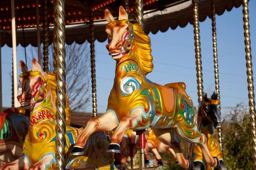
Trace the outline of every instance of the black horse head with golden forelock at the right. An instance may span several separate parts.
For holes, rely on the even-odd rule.
[[[215,128],[220,128],[224,119],[220,116],[219,100],[217,99],[217,92],[215,91],[211,98],[207,98],[207,94],[203,94],[203,100],[200,106],[200,113],[203,119],[210,122]]]

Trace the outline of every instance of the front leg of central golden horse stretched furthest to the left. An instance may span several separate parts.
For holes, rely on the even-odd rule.
[[[90,119],[77,137],[70,155],[82,155],[84,153],[83,147],[85,146],[88,137],[93,133],[98,131],[112,131],[117,126],[118,119],[116,114],[112,111],[108,111],[98,118]]]

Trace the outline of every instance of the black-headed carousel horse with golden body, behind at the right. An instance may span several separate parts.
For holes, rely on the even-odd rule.
[[[203,100],[198,107],[197,122],[200,132],[206,135],[211,154],[217,157],[220,162],[219,168],[215,168],[215,170],[226,170],[223,151],[219,146],[215,132],[215,129],[220,128],[224,122],[224,119],[220,117],[218,104],[217,92],[214,92],[210,99],[204,93]],[[206,163],[202,150],[197,144],[192,145],[190,152],[194,162],[194,170],[213,170],[213,167]]]

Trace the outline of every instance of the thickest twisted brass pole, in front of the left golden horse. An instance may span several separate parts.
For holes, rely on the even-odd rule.
[[[56,162],[57,169],[65,169],[65,0],[55,0],[54,3],[54,54],[55,54],[55,71],[56,71]]]

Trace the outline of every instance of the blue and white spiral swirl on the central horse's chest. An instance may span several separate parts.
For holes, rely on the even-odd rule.
[[[140,89],[140,82],[136,77],[124,77],[120,81],[121,92],[124,96],[131,95],[135,90]]]

